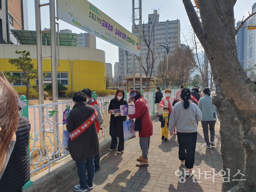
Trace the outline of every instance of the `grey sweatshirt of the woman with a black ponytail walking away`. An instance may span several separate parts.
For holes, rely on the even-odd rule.
[[[195,103],[190,102],[189,108],[187,109],[184,109],[182,103],[176,103],[171,110],[169,120],[170,133],[173,132],[174,126],[179,133],[196,132],[197,122],[202,120],[202,113]]]

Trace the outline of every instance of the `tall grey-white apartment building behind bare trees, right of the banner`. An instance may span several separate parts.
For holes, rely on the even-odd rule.
[[[143,26],[142,26],[143,27]],[[181,43],[180,37],[180,20],[166,20],[159,22],[159,14],[157,14],[157,10],[154,10],[153,14],[148,15],[148,22],[144,23],[144,31],[149,37],[148,41],[150,41],[150,35],[152,32],[152,40],[151,40],[151,50],[153,50],[153,54],[160,60],[163,60],[163,55],[165,54],[166,49],[164,47],[156,47],[155,45],[164,45],[164,46],[171,46],[170,53],[174,51],[174,49],[179,46]],[[139,37],[139,25],[135,26],[135,35]],[[148,48],[142,42],[142,65],[146,68],[146,55]],[[121,48],[118,48],[118,63],[122,63],[120,67],[120,74],[122,78],[130,76],[133,74],[133,55],[130,52],[127,52]],[[149,61],[151,62],[151,61]],[[128,64],[127,64],[128,63]],[[135,73],[139,73],[139,61],[135,57]],[[157,66],[159,65],[160,61],[157,59],[153,65],[153,72],[152,76],[157,75]],[[127,73],[128,71],[128,73]],[[144,70],[142,69],[142,74]]]

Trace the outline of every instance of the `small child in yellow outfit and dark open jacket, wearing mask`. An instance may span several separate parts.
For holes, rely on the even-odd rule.
[[[168,113],[169,108],[164,107],[163,108],[163,114],[159,116],[159,121],[161,122],[161,127],[162,127],[162,140],[165,140],[167,142],[168,138],[168,133],[169,133],[169,119],[170,119],[170,114]]]

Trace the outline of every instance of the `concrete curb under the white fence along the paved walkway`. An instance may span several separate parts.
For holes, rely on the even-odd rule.
[[[150,115],[151,120],[156,117],[157,113]],[[117,142],[119,142],[119,139]],[[99,142],[100,155],[106,153],[109,150],[110,145],[111,137],[106,137],[105,140],[101,140]],[[23,192],[50,191],[61,182],[65,181],[66,179],[77,173],[77,166],[75,165],[75,161],[73,161],[70,155],[63,159],[60,159],[59,163],[57,165],[54,165],[50,169],[50,173],[48,173],[48,170],[45,170],[32,177],[31,181],[33,181],[34,185],[28,187],[27,189],[23,189]]]

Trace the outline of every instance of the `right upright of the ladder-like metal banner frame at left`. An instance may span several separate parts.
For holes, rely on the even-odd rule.
[[[49,1],[50,6],[50,29],[51,29],[51,80],[52,80],[52,92],[53,103],[58,103],[58,88],[57,88],[57,60],[56,60],[56,24],[55,24],[55,1]],[[52,106],[52,110],[58,111],[57,105]],[[61,113],[61,112],[59,112]],[[59,138],[59,125],[58,114],[53,115],[53,130],[55,132],[55,138]],[[54,140],[55,152],[59,150],[60,143]]]

